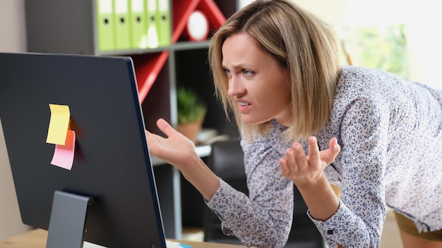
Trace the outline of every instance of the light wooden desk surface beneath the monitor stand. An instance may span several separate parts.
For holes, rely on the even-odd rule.
[[[45,248],[47,231],[42,229],[31,230],[28,233],[8,237],[0,240],[0,248]],[[176,241],[176,240],[174,240]],[[215,244],[207,242],[179,241],[181,244],[189,244],[192,248],[244,248],[233,244]]]

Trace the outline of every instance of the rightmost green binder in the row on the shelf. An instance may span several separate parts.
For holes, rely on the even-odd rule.
[[[157,30],[159,45],[169,46],[171,43],[169,0],[157,0]]]

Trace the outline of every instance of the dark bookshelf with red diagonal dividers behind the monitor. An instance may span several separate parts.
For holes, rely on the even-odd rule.
[[[95,0],[25,0],[28,51],[130,56],[136,71],[143,116],[148,130],[162,135],[155,125],[158,118],[164,118],[173,126],[177,126],[176,89],[179,85],[186,85],[196,89],[208,104],[203,128],[213,128],[220,135],[236,137],[237,128],[227,121],[220,103],[214,96],[215,89],[207,62],[209,42],[187,42],[181,34],[186,19],[194,10],[203,11],[208,17],[210,30],[217,30],[225,22],[225,18],[237,10],[237,0],[159,1],[169,1],[171,8],[169,45],[99,51]],[[208,156],[210,153],[206,148],[201,148],[205,150],[201,156]],[[180,239],[183,182],[177,169],[161,166],[162,161],[155,158],[153,163],[166,236]]]

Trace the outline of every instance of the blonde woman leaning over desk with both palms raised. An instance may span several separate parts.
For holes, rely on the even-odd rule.
[[[247,246],[284,246],[294,184],[330,247],[378,247],[386,206],[405,247],[442,247],[442,92],[341,67],[337,47],[328,25],[286,0],[253,1],[213,36],[210,68],[240,127],[249,197],[164,120],[167,138],[147,132],[151,153]]]

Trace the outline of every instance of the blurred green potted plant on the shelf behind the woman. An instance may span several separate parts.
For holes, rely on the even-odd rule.
[[[192,89],[179,87],[177,90],[178,132],[196,144],[196,136],[200,132],[207,106]]]

